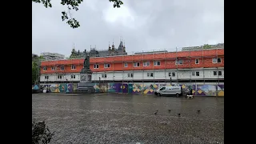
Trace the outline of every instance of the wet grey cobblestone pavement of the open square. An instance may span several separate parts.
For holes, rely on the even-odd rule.
[[[224,143],[224,98],[32,94],[32,120],[50,143]]]

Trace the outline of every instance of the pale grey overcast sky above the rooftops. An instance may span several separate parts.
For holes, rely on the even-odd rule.
[[[125,40],[129,54],[175,47],[224,42],[224,0],[123,0],[113,8],[108,0],[84,0],[72,16],[80,22],[72,29],[62,22],[66,6],[52,0],[52,8],[32,2],[32,53],[70,55],[76,50],[106,50]]]

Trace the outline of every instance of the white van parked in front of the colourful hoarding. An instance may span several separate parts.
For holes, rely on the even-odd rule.
[[[154,94],[158,96],[175,94],[178,97],[182,95],[182,87],[181,86],[163,86],[160,89],[156,90]]]

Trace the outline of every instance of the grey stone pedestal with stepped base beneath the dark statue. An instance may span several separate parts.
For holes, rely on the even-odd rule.
[[[90,69],[82,68],[80,73],[80,82],[78,83],[79,94],[91,94],[95,93],[94,84],[91,82],[93,72]]]

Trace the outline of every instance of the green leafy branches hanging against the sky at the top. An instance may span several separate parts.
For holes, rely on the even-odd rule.
[[[46,8],[52,7],[51,0],[32,0],[32,2],[37,2],[37,3],[42,3],[43,6]],[[122,0],[109,0],[110,2],[114,2],[114,8],[117,7],[119,8],[123,2]],[[67,21],[66,23],[70,25],[70,27],[78,28],[80,26],[79,22],[75,19],[72,18],[72,15],[70,13],[70,10],[76,10],[78,11],[78,6],[83,2],[83,0],[61,0],[61,4],[63,6],[67,6],[66,11],[62,11],[62,21]]]

